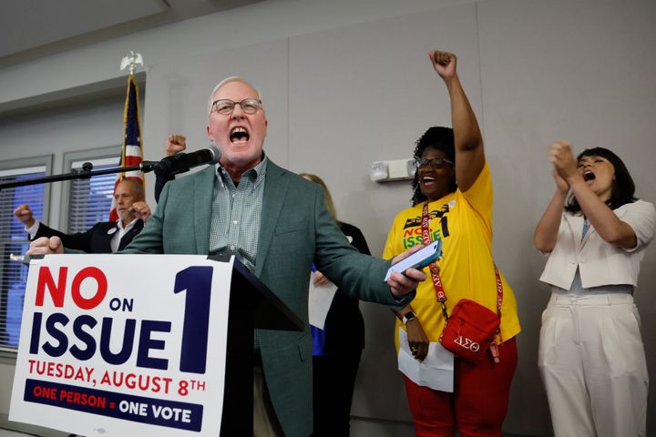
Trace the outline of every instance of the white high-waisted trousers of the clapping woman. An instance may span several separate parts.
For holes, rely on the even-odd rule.
[[[538,366],[557,437],[644,436],[649,378],[628,293],[552,293]]]

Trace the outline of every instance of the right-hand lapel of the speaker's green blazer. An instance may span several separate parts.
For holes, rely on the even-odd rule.
[[[278,223],[289,185],[289,180],[284,177],[287,170],[273,164],[271,159],[267,163],[266,171],[262,198],[260,239],[258,241],[258,254],[255,266],[255,276],[258,278],[261,277],[262,266],[266,263],[266,257],[273,239],[273,232]]]

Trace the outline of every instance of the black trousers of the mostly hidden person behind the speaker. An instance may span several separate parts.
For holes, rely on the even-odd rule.
[[[313,357],[313,437],[348,436],[362,350]]]

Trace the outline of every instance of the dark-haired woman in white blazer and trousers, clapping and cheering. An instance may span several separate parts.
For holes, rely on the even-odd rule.
[[[610,150],[574,158],[557,141],[548,157],[557,188],[534,240],[548,254],[538,366],[554,432],[644,436],[649,380],[633,291],[656,211],[634,197],[629,171]]]

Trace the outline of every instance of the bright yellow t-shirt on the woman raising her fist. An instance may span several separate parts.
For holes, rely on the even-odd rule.
[[[494,194],[487,163],[474,185],[428,204],[431,240],[442,240],[442,255],[437,260],[440,278],[446,294],[446,308],[451,314],[458,300],[475,300],[497,312],[497,279],[492,256],[492,207]],[[391,259],[399,253],[422,244],[421,219],[424,204],[401,211],[387,235],[383,258]],[[428,268],[428,279],[419,284],[411,306],[428,336],[435,342],[444,327],[444,317],[437,302],[436,290]],[[503,303],[501,306],[501,339],[510,340],[521,330],[517,300],[503,274]],[[395,343],[398,350],[396,320]],[[498,339],[497,339],[498,340]]]

